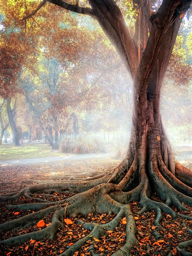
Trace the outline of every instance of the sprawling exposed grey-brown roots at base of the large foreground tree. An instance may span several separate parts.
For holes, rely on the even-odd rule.
[[[42,198],[36,198],[36,200],[41,202],[23,205],[9,205],[9,209],[25,211],[32,210],[36,212],[1,224],[1,232],[6,232],[15,228],[20,229],[26,226],[33,226],[38,220],[43,219],[46,215],[52,212],[54,212],[54,214],[50,226],[39,231],[0,241],[0,244],[14,245],[26,242],[29,239],[53,239],[58,228],[63,228],[62,220],[64,215],[86,215],[94,212],[115,213],[115,218],[107,224],[88,223],[79,220],[78,223],[81,224],[83,228],[90,230],[90,233],[79,241],[76,241],[76,243],[61,255],[72,255],[89,239],[92,240],[90,252],[94,254],[94,238],[99,239],[108,230],[114,230],[119,224],[122,216],[125,216],[127,220],[126,242],[124,246],[113,255],[129,255],[131,248],[137,243],[137,227],[129,205],[129,202],[131,201],[139,201],[139,206],[142,207],[139,214],[143,214],[144,212],[151,210],[156,212],[156,218],[154,221],[154,226],[156,226],[156,228],[153,230],[153,235],[157,240],[160,239],[161,235],[158,230],[161,228],[160,222],[162,220],[162,212],[171,215],[172,218],[180,216],[188,220],[192,219],[190,216],[182,215],[171,209],[171,206],[173,205],[177,207],[179,211],[188,210],[182,205],[182,203],[185,203],[188,206],[192,205],[192,190],[188,185],[189,182],[187,183],[185,180],[183,183],[183,177],[186,179],[186,173],[188,173],[188,171],[184,169],[185,174],[181,174],[182,168],[180,165],[176,164],[175,173],[177,177],[174,176],[173,172],[169,171],[162,158],[153,157],[151,159],[151,166],[149,167],[149,170],[146,171],[145,164],[139,163],[136,158],[132,161],[132,164],[128,164],[127,160],[124,160],[116,169],[113,170],[113,172],[108,171],[108,174],[89,173],[88,175],[92,174],[92,176],[90,175],[88,177],[87,175],[84,176],[84,173],[73,175],[73,177],[70,175],[54,175],[51,178],[61,179],[61,181],[39,181],[39,184],[27,186],[20,192],[15,191],[1,195],[0,200],[4,202],[8,200],[15,200],[21,195],[26,198],[34,198],[35,195],[45,197],[52,196],[55,198],[57,196],[54,194],[44,193],[70,192],[74,194],[70,198],[55,202],[48,202]],[[156,192],[164,203],[152,200],[152,191]],[[44,207],[46,208],[42,209]],[[187,230],[189,233],[192,232],[190,229]],[[182,255],[190,255],[187,254],[188,252],[184,252],[183,248],[191,246],[191,243],[191,240],[180,243],[177,247],[178,252]]]

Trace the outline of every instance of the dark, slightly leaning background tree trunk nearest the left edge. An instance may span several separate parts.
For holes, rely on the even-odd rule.
[[[13,117],[13,110],[11,109],[11,98],[7,98],[6,102],[7,102],[6,110],[9,118],[9,124],[13,132],[13,142],[15,143],[15,146],[19,146],[19,136],[18,136],[17,128],[15,125],[14,117]]]

